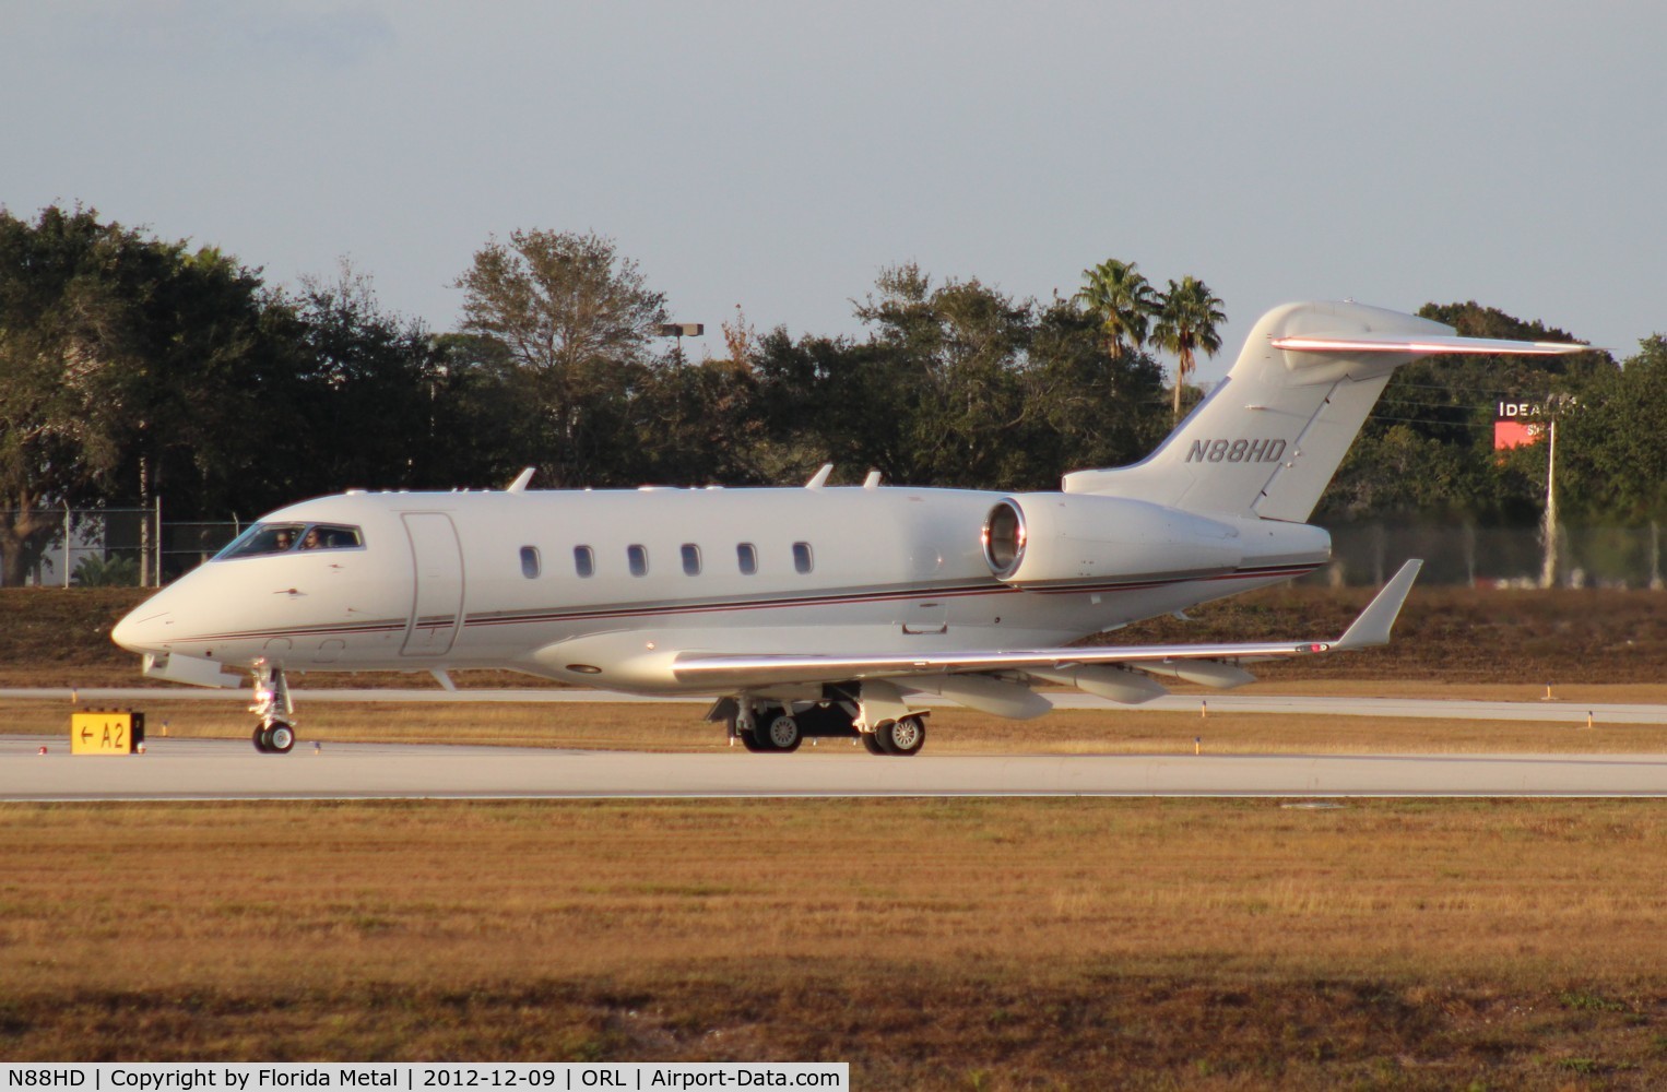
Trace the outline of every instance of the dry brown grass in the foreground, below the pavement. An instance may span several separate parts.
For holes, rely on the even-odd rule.
[[[7,1059],[1667,1080],[1647,802],[0,807]]]

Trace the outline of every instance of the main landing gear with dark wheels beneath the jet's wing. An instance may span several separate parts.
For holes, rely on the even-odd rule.
[[[870,755],[907,759],[920,754],[927,742],[925,714],[900,702],[864,702],[832,687],[820,700],[788,702],[747,694],[720,699],[707,720],[723,722],[730,740],[752,754],[788,754],[807,739],[860,739]]]

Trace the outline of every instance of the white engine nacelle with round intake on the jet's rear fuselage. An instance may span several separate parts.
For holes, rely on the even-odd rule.
[[[1125,497],[1020,493],[984,520],[984,560],[1005,584],[1209,575],[1242,559],[1237,527]]]

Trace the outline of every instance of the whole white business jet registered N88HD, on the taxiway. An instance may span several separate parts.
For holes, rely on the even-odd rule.
[[[1290,303],[1145,460],[1062,492],[828,487],[367,493],[265,517],[113,630],[145,674],[242,685],[255,747],[295,744],[290,672],[508,669],[630,694],[722,695],[748,750],[925,742],[920,695],[1002,717],[1064,684],[1117,702],[1159,679],[1380,645],[1409,562],[1340,637],[1094,645],[1092,634],[1324,565],[1307,520],[1390,372],[1430,353],[1585,345],[1454,337],[1357,303]]]

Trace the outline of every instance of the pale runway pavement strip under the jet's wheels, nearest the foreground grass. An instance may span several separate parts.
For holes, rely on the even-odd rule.
[[[38,754],[45,747],[47,754]],[[158,739],[72,757],[0,737],[0,800],[595,797],[1667,797],[1667,755],[792,755]]]

